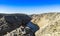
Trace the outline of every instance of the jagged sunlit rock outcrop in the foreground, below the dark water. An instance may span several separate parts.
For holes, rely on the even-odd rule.
[[[35,34],[29,27],[20,26],[19,28],[8,32],[4,36],[35,36]]]

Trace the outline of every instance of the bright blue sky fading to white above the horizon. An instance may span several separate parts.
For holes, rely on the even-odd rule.
[[[60,0],[0,0],[0,13],[60,12]]]

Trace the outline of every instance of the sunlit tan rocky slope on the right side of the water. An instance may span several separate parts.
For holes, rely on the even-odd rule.
[[[60,36],[60,13],[44,13],[32,15],[32,22],[40,29],[36,36]]]

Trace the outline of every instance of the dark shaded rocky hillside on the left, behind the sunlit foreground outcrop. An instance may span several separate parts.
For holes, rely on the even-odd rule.
[[[0,17],[0,36],[19,28],[21,25],[26,26],[31,20],[25,14],[1,14]]]

